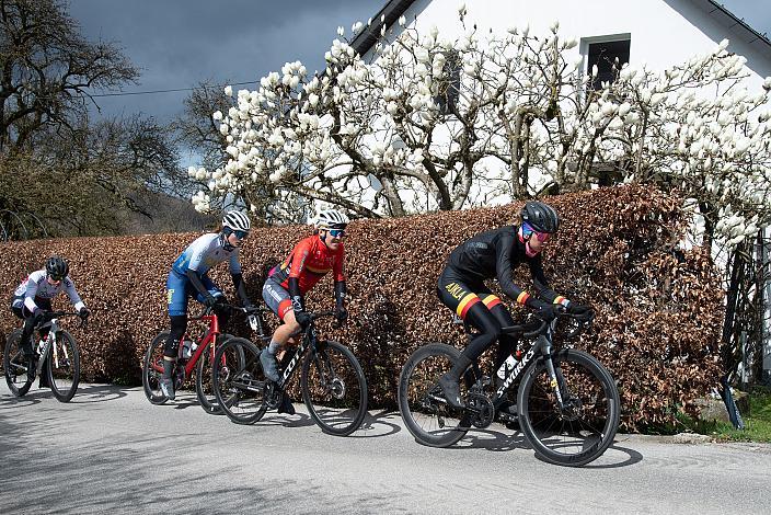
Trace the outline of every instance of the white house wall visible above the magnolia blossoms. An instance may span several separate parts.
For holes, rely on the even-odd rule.
[[[748,88],[757,89],[771,76],[771,47],[764,54],[743,41],[746,34],[721,26],[703,10],[702,0],[476,0],[464,2],[468,9],[465,26],[474,23],[484,34],[491,28],[505,33],[511,26],[530,26],[532,34],[548,34],[554,20],[560,22],[563,36],[578,39],[613,34],[630,34],[630,62],[647,64],[651,69],[665,69],[697,54],[711,50],[728,38],[729,52],[747,58],[751,72]],[[759,2],[763,3],[763,2]],[[460,1],[418,0],[404,13],[407,24],[428,31],[439,28],[441,38],[462,35],[458,23]],[[762,46],[761,46],[762,48]],[[580,46],[574,50],[577,56]]]

